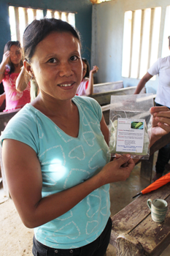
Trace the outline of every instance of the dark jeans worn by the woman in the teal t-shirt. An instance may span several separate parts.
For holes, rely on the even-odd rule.
[[[75,249],[54,249],[39,243],[33,238],[34,256],[104,256],[109,244],[110,233],[112,230],[112,219],[109,218],[104,231],[92,243]]]

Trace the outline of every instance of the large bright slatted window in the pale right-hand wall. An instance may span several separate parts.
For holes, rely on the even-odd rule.
[[[160,23],[161,7],[125,12],[123,77],[142,78],[157,60]]]

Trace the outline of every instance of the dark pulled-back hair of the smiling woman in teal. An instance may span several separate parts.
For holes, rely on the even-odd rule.
[[[80,42],[79,33],[69,23],[63,20],[57,20],[55,18],[33,20],[33,22],[26,27],[23,34],[23,52],[26,61],[31,61],[32,56],[34,56],[36,45],[53,31],[61,33],[69,32]]]

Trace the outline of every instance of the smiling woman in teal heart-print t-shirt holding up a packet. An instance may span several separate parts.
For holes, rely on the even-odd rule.
[[[126,154],[109,162],[100,106],[74,96],[82,80],[77,31],[62,20],[34,20],[23,49],[39,95],[1,135],[10,195],[23,223],[34,227],[34,255],[103,256],[112,228],[109,183],[128,178],[134,161]],[[154,143],[170,131],[170,111],[151,112]]]

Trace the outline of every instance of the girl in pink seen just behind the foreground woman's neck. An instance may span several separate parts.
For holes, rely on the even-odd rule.
[[[93,74],[98,72],[98,67],[94,66],[93,69],[90,70],[90,65],[87,59],[82,58],[82,81],[80,86],[77,89],[76,95],[83,96],[83,95],[91,95],[93,94]]]

